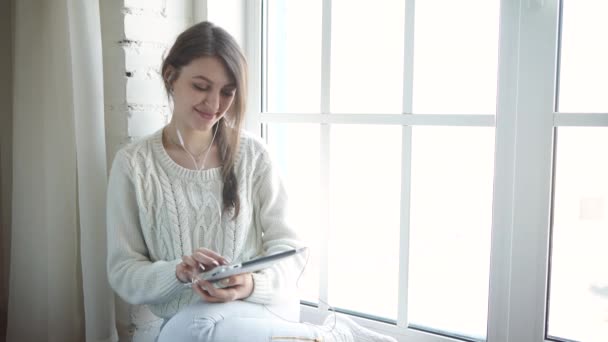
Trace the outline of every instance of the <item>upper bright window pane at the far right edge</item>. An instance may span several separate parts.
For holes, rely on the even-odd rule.
[[[559,111],[608,112],[608,2],[563,1]]]

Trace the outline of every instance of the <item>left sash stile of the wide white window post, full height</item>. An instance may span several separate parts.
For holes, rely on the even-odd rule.
[[[520,2],[502,0],[496,101],[488,341],[508,341]]]

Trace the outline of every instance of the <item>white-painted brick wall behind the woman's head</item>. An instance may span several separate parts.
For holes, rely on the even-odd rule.
[[[159,74],[176,36],[194,22],[193,1],[100,1],[108,165],[126,142],[169,118]]]

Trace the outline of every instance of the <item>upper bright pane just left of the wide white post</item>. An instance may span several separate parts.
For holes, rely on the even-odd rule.
[[[416,1],[413,112],[496,112],[499,0]]]

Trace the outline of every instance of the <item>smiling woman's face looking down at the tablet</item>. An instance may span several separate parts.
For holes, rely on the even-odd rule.
[[[180,126],[210,130],[232,105],[236,83],[217,57],[200,57],[182,67],[173,82],[173,116]]]

